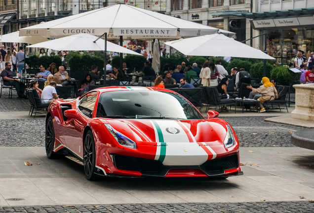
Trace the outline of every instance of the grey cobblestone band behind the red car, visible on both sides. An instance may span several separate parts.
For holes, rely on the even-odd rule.
[[[240,146],[294,146],[291,133],[301,127],[264,122],[268,117],[221,117],[235,129]],[[44,146],[44,119],[0,119],[0,146]]]

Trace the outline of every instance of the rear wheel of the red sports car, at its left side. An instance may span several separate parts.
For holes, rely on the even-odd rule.
[[[53,151],[54,148],[54,128],[52,118],[49,117],[46,122],[46,133],[45,133],[45,148],[46,155],[49,159],[57,158],[59,155]]]

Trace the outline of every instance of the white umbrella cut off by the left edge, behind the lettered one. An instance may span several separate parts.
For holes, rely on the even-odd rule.
[[[0,36],[0,42],[35,44],[48,39],[42,36],[19,36],[19,31]]]

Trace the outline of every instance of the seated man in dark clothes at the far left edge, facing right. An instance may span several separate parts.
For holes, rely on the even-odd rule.
[[[26,95],[24,94],[25,85],[22,83],[19,79],[13,78],[13,72],[11,71],[11,64],[10,62],[5,63],[5,69],[1,72],[4,85],[6,86],[14,86],[18,99],[26,98]]]

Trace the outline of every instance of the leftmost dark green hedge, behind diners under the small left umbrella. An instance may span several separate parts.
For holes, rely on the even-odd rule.
[[[45,64],[47,68],[50,66],[51,63],[56,63],[57,68],[62,65],[61,58],[59,56],[41,56],[40,58],[37,55],[31,55],[30,57],[26,58],[26,64],[29,68],[38,69],[40,64]]]

